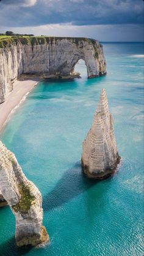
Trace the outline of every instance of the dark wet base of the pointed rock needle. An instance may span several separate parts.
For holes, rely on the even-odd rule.
[[[85,174],[85,176],[88,177],[88,179],[95,179],[95,180],[103,180],[107,179],[108,177],[112,177],[113,174],[117,172],[117,166],[120,163],[121,157],[118,156],[117,161],[115,162],[115,166],[112,169],[106,169],[104,172],[97,172],[97,173],[90,173],[88,171],[88,166],[84,165],[82,159],[81,159],[81,164],[82,164],[82,170]]]

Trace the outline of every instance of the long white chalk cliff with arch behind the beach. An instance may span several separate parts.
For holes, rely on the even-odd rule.
[[[98,41],[74,37],[29,37],[0,42],[0,103],[20,74],[67,76],[78,60],[84,60],[87,76],[106,74],[103,46]]]

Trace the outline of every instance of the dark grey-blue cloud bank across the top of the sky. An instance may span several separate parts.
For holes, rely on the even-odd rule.
[[[142,0],[1,0],[0,26],[143,23]]]

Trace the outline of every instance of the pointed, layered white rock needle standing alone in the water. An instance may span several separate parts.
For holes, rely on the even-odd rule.
[[[92,128],[82,144],[82,167],[88,178],[106,179],[115,173],[118,155],[113,118],[109,112],[106,90],[103,89],[96,109]]]

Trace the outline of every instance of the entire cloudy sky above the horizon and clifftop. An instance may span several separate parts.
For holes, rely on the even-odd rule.
[[[143,0],[0,0],[0,33],[143,41]]]

